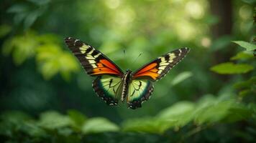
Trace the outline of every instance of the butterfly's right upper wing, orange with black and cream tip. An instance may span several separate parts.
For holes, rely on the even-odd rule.
[[[186,56],[188,51],[188,48],[181,48],[158,57],[135,71],[133,79],[151,79],[154,82],[161,79]]]

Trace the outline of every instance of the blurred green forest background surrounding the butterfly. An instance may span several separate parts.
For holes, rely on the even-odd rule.
[[[0,141],[256,142],[255,4],[1,0]],[[68,36],[123,70],[191,51],[132,110],[96,96]]]

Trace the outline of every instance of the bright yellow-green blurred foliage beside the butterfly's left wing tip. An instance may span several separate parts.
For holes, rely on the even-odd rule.
[[[78,71],[76,59],[60,48],[60,41],[54,34],[37,35],[27,31],[24,35],[14,36],[4,42],[3,54],[12,53],[14,63],[22,64],[35,56],[40,72],[45,79],[60,74],[68,79],[70,72]]]

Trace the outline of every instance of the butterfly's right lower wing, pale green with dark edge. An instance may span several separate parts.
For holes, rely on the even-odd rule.
[[[150,95],[153,92],[153,84],[147,79],[134,79],[129,84],[129,90],[127,95],[127,107],[131,109],[137,109],[142,107],[142,102],[150,99]]]

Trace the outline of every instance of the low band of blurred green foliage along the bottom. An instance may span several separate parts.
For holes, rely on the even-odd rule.
[[[173,104],[155,117],[129,119],[124,121],[121,127],[103,117],[85,117],[76,110],[68,111],[68,115],[55,111],[43,112],[39,119],[32,119],[23,112],[9,111],[1,114],[0,136],[6,140],[12,139],[13,142],[19,139],[27,142],[26,139],[33,137],[36,139],[31,140],[32,142],[45,142],[52,137],[55,137],[57,142],[63,139],[66,139],[65,142],[81,142],[90,136],[107,132],[116,132],[115,134],[123,132],[122,136],[131,132],[145,132],[160,134],[160,137],[164,137],[165,134],[170,134],[168,131],[171,129],[181,135],[183,133],[179,130],[188,127],[188,132],[179,138],[187,140],[191,134],[195,134],[193,128],[198,129],[196,132],[202,132],[221,123],[234,124],[234,122],[251,119],[255,122],[253,117],[256,114],[255,106],[255,104],[245,105],[237,102],[234,97],[227,97],[226,94],[218,98],[206,95],[197,103]],[[23,137],[17,134],[23,134]]]

